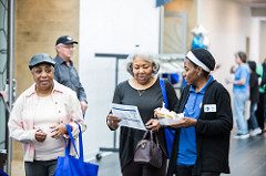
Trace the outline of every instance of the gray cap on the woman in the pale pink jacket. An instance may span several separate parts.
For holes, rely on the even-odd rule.
[[[41,64],[41,63],[48,63],[52,66],[54,66],[54,64],[55,64],[55,62],[52,60],[52,58],[49,54],[39,53],[31,58],[31,60],[29,62],[29,68],[31,70],[32,68],[34,68],[35,65]]]

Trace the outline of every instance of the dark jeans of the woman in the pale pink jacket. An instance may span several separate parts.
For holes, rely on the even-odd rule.
[[[57,164],[57,159],[25,162],[25,176],[53,176]]]

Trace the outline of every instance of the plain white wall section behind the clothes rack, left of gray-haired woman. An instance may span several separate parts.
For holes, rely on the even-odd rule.
[[[99,147],[113,146],[113,133],[105,117],[114,92],[114,58],[95,53],[131,53],[135,44],[158,52],[158,17],[155,0],[80,1],[80,77],[88,93],[88,131],[84,149],[89,156]],[[125,62],[119,66],[119,82],[125,80]]]

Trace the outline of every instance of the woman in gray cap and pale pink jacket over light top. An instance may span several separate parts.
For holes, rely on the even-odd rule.
[[[64,155],[66,128],[85,130],[75,92],[53,80],[54,61],[45,53],[29,62],[34,83],[16,101],[8,122],[10,137],[23,144],[25,176],[53,176]]]

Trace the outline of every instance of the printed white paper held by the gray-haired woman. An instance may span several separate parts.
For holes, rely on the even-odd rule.
[[[137,106],[115,104],[115,103],[112,103],[111,106],[112,106],[111,110],[113,115],[122,120],[120,122],[121,126],[127,126],[127,127],[146,131],[146,127],[141,118]]]

